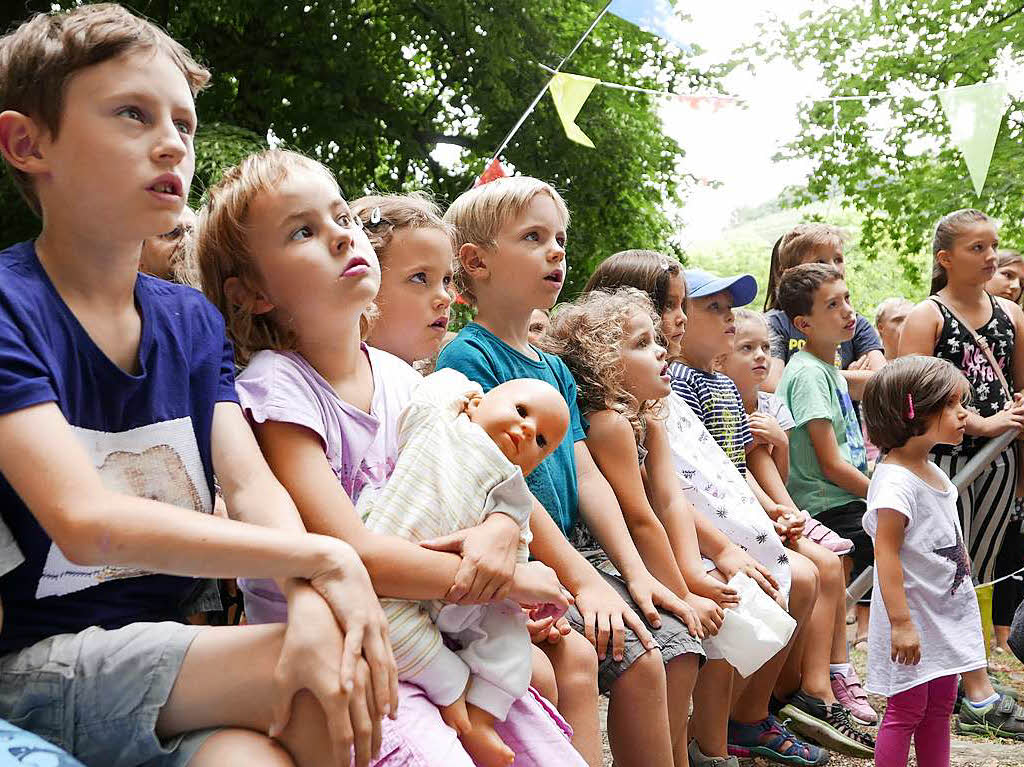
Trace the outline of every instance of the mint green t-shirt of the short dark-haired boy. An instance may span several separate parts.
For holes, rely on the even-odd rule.
[[[864,436],[846,379],[836,366],[822,363],[809,351],[798,351],[786,364],[775,393],[797,423],[790,431],[790,480],[785,483],[797,505],[813,516],[862,500],[825,479],[807,430],[811,421],[830,421],[843,460],[867,473]]]

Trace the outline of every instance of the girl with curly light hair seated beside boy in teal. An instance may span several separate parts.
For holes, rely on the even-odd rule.
[[[713,637],[724,608],[738,601],[724,581],[744,570],[772,596],[778,593],[777,582],[767,567],[712,524],[701,525],[702,546],[698,544],[697,515],[681,492],[669,441],[673,403],[660,325],[660,312],[638,290],[592,291],[557,312],[545,343],[577,380],[581,411],[590,422],[594,459],[615,493],[637,549],[655,577],[696,610],[709,637],[705,650],[721,659]],[[707,450],[714,444],[709,440]],[[586,544],[578,545],[584,548]],[[701,557],[701,548],[710,558]],[[797,614],[807,607],[800,605]],[[723,700],[730,697],[726,694]],[[730,763],[727,722],[728,704],[695,707],[696,737],[688,754],[691,764]],[[777,732],[772,730],[769,740],[778,753],[788,752],[808,764],[824,758],[820,749],[800,743],[780,726]]]

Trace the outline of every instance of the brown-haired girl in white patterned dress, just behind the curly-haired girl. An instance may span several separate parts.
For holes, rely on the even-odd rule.
[[[681,348],[687,329],[687,286],[679,262],[654,251],[623,251],[598,265],[585,292],[616,291],[624,287],[644,295],[653,306],[660,338],[666,339],[670,348]],[[571,364],[569,368],[572,369]],[[782,603],[787,598],[790,614],[803,626],[817,593],[818,579],[813,565],[782,546],[746,480],[682,397],[675,393],[666,396],[660,409],[653,421],[657,424],[656,431],[664,430],[669,465],[675,473],[676,484],[670,487],[699,512],[693,518],[701,552],[714,560],[727,580],[742,569],[770,596],[778,596]],[[649,431],[652,419],[646,420]],[[656,453],[656,445],[657,438],[652,442],[648,434],[645,441],[648,477],[650,452]],[[664,517],[666,501],[648,495]],[[763,573],[769,573],[771,583]],[[732,667],[715,651],[713,643],[706,643],[711,663],[700,672],[701,683],[693,695],[691,729],[696,741],[691,755],[693,764],[706,763],[696,758],[695,752],[724,759],[727,745],[729,754],[763,756],[783,764],[820,764],[827,758],[827,752],[802,742],[769,713],[776,684],[786,690],[799,686],[796,658],[801,655],[799,645],[806,634],[799,631],[781,652],[750,679],[737,681],[744,688],[736,690],[735,695],[729,694],[733,685]],[[786,664],[790,655],[795,655],[795,659]],[[720,724],[726,717],[731,717],[727,730]]]

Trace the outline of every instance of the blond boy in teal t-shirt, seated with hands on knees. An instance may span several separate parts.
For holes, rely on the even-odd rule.
[[[691,625],[697,627],[695,613],[650,574],[633,545],[614,493],[587,449],[572,375],[557,356],[529,343],[532,310],[551,308],[565,279],[568,211],[549,184],[514,176],[462,195],[445,219],[456,226],[456,286],[479,313],[444,347],[437,367],[455,368],[484,390],[539,378],[565,397],[568,433],[527,477],[544,506],[530,518],[530,553],[572,593],[569,622],[597,649],[598,685],[611,696],[615,763],[678,764],[686,758],[686,718],[670,712],[685,711],[689,702],[697,655],[683,637],[690,639]],[[591,566],[569,544],[566,536],[584,519],[621,574]],[[671,556],[667,538],[665,544]]]

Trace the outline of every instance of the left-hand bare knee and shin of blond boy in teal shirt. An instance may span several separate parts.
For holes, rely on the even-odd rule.
[[[669,700],[665,662],[648,650],[611,686],[608,741],[616,767],[669,767]]]

